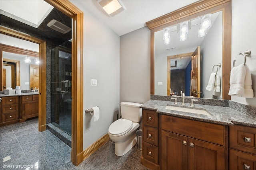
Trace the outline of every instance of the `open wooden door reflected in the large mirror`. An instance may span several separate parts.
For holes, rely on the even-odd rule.
[[[200,46],[194,51],[191,64],[191,96],[200,98]]]

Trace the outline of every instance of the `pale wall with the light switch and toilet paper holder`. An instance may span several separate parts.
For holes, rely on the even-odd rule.
[[[70,0],[84,12],[84,149],[103,135],[116,120],[119,109],[120,37],[100,23],[80,1]],[[98,86],[91,86],[97,79]],[[100,107],[100,119],[94,122],[85,109]]]

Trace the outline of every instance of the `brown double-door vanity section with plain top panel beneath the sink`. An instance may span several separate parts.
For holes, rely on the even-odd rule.
[[[228,127],[161,115],[161,169],[228,169]]]

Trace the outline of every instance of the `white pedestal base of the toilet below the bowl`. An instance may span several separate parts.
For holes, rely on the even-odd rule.
[[[137,143],[136,133],[132,135],[128,140],[122,143],[115,143],[115,154],[117,156],[123,156]]]

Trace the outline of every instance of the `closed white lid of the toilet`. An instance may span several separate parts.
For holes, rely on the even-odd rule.
[[[108,132],[112,135],[126,134],[132,129],[132,121],[127,119],[118,119],[114,121],[108,128]]]

